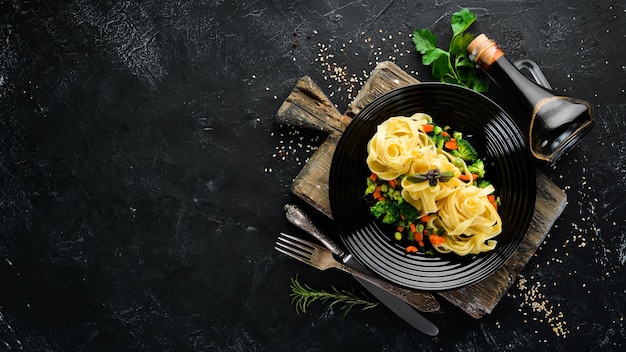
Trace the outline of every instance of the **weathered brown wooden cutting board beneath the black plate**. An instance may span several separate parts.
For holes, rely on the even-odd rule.
[[[332,219],[328,175],[333,153],[343,131],[352,118],[373,99],[392,89],[413,83],[419,81],[394,63],[379,63],[346,112],[341,114],[310,77],[300,79],[276,113],[276,121],[322,130],[328,133],[328,137],[295,178],[291,191]],[[537,171],[535,213],[526,237],[517,251],[504,266],[486,279],[438,295],[474,318],[491,313],[543,242],[565,209],[566,201],[565,192]]]

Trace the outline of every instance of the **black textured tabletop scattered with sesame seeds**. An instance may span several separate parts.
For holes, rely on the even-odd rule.
[[[340,111],[377,62],[430,80],[414,28],[478,15],[597,124],[540,166],[569,203],[493,314],[431,338],[383,307],[296,314],[273,250],[324,135],[273,114],[310,75]],[[626,7],[618,1],[0,1],[0,350],[621,351]],[[496,99],[497,90],[490,93]],[[506,102],[501,101],[506,105]],[[299,204],[299,203],[298,203]],[[329,225],[329,224],[327,224]],[[330,227],[328,227],[330,230]]]

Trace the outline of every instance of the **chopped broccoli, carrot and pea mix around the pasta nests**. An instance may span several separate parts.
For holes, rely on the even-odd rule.
[[[460,179],[465,182],[473,182],[476,186],[484,188],[491,183],[485,178],[484,160],[478,157],[476,149],[463,137],[461,132],[452,132],[449,127],[441,127],[436,124],[423,126],[423,131],[428,134],[438,149],[451,154],[456,159],[453,163],[462,172]],[[433,246],[444,241],[445,230],[434,227],[430,218],[433,214],[422,215],[420,210],[402,197],[402,180],[409,178],[411,182],[426,182],[436,186],[437,182],[447,182],[454,175],[439,170],[429,170],[426,173],[402,175],[394,180],[382,180],[372,173],[367,178],[365,196],[371,201],[370,213],[383,224],[394,228],[394,240],[401,243],[407,253],[423,251],[426,254],[434,254]],[[497,209],[500,205],[500,197],[495,194],[487,196],[489,202]]]

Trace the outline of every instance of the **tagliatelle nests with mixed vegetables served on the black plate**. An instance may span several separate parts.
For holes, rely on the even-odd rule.
[[[424,113],[397,116],[377,127],[367,150],[370,212],[394,226],[407,252],[465,256],[495,248],[500,200],[461,132]]]

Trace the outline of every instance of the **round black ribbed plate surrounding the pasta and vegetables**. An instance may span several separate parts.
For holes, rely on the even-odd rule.
[[[487,179],[502,200],[502,233],[493,251],[465,257],[406,254],[392,240],[393,232],[370,215],[363,197],[370,174],[367,142],[386,119],[417,112],[463,132],[485,159]],[[535,166],[517,124],[482,94],[443,83],[398,88],[365,107],[339,140],[329,177],[333,218],[348,250],[384,279],[424,291],[459,288],[492,274],[522,241],[535,206]]]

